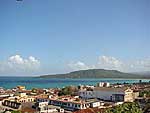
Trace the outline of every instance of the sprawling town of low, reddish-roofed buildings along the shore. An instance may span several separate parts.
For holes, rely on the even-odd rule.
[[[149,111],[150,83],[79,85],[27,90],[25,86],[0,88],[1,113],[105,113],[123,104]],[[113,113],[113,112],[112,112]]]

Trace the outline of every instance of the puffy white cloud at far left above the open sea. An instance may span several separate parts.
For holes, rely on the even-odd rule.
[[[10,56],[6,61],[0,62],[1,74],[33,74],[40,67],[40,61],[33,56],[27,59],[20,55]]]

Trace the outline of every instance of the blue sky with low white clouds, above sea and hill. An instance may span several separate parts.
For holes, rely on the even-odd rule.
[[[0,0],[0,76],[150,71],[149,0]]]

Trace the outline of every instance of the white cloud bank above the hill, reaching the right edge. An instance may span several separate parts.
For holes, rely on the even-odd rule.
[[[119,70],[122,72],[142,72],[150,71],[150,58],[123,61],[112,56],[99,56],[97,63],[92,66],[81,61],[71,62],[68,66],[72,69],[72,71],[86,69],[108,69]]]

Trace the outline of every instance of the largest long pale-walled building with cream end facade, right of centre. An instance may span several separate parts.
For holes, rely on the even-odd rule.
[[[97,98],[114,102],[133,102],[133,90],[129,88],[95,87],[93,91],[81,90],[79,96],[84,99]]]

